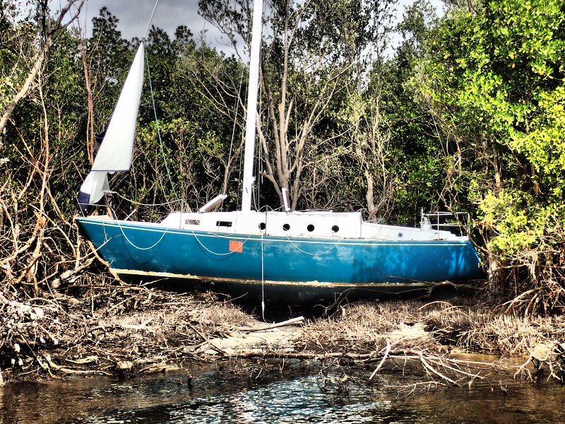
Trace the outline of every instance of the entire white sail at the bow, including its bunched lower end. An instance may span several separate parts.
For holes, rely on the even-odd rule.
[[[81,208],[95,204],[109,190],[108,172],[126,171],[131,167],[133,141],[136,136],[137,113],[143,88],[144,49],[141,44],[129,70],[124,87],[106,129],[106,134],[93,163],[93,169],[85,178],[78,196]],[[88,199],[87,199],[88,198]]]

